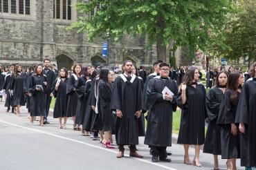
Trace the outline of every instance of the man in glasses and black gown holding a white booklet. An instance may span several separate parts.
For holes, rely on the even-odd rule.
[[[172,111],[176,111],[178,87],[168,77],[170,66],[161,63],[159,68],[160,76],[151,79],[147,86],[146,104],[149,107],[149,116],[145,144],[152,149],[152,162],[158,162],[158,158],[163,162],[171,162],[167,158],[166,148],[172,146]]]

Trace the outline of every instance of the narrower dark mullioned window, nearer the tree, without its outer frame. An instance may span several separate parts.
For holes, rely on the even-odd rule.
[[[71,20],[71,0],[53,0],[53,18]]]

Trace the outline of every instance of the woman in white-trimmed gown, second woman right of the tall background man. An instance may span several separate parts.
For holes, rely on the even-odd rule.
[[[78,79],[82,75],[82,66],[80,64],[75,64],[73,66],[73,73],[68,79],[66,84],[66,95],[68,95],[68,104],[66,108],[67,117],[72,117],[73,120],[73,129],[75,131],[80,131],[78,124],[75,124],[75,113],[77,108],[77,93],[75,88],[77,87]]]

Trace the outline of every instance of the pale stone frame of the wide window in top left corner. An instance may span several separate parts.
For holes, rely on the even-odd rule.
[[[0,10],[0,17],[4,19],[22,19],[22,20],[28,20],[28,21],[35,21],[36,19],[36,6],[35,6],[35,1],[34,0],[16,0],[16,4],[12,4],[12,0],[7,0],[8,1],[8,12],[3,12],[3,1],[5,0],[0,0],[1,1],[1,10]],[[20,13],[20,1],[23,1],[23,13]],[[27,4],[29,3],[29,8]],[[12,12],[12,7],[16,7],[15,13]],[[29,9],[29,10],[28,10]]]

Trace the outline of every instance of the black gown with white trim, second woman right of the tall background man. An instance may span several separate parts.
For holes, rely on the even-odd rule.
[[[77,83],[78,77],[75,74],[72,74],[66,84],[66,95],[68,95],[68,104],[66,108],[67,117],[75,116],[78,100],[77,93],[75,92]]]

